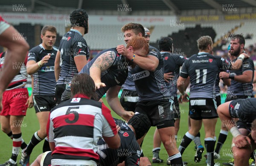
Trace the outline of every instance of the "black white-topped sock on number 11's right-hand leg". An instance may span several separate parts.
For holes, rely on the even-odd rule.
[[[214,165],[213,153],[214,153],[214,146],[215,146],[214,138],[205,138],[204,146],[207,150],[207,163],[210,166],[213,166]]]

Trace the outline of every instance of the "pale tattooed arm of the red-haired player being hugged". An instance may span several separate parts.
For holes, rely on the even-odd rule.
[[[106,85],[101,82],[101,72],[111,67],[116,57],[116,53],[113,51],[107,51],[102,53],[90,67],[90,76],[95,82],[96,89],[105,87]]]

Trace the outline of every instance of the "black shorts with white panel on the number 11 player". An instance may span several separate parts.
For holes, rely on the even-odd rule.
[[[213,98],[189,98],[189,116],[195,120],[218,118]]]

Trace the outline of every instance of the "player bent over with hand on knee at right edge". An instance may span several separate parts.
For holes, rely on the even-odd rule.
[[[251,153],[256,149],[256,98],[245,98],[221,104],[217,113],[233,135],[231,150],[236,166],[248,166]],[[246,122],[247,132],[240,132],[233,118]],[[250,134],[249,134],[250,133]],[[249,135],[248,135],[249,134]]]

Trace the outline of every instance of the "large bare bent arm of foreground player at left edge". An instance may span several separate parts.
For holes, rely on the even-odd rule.
[[[13,37],[15,35],[15,38]],[[29,44],[20,35],[20,33],[11,25],[9,25],[0,16],[0,45],[8,49],[5,57],[5,64],[0,72],[0,111],[2,110],[3,92],[8,87],[12,79],[19,73]],[[18,70],[13,70],[13,68]]]

